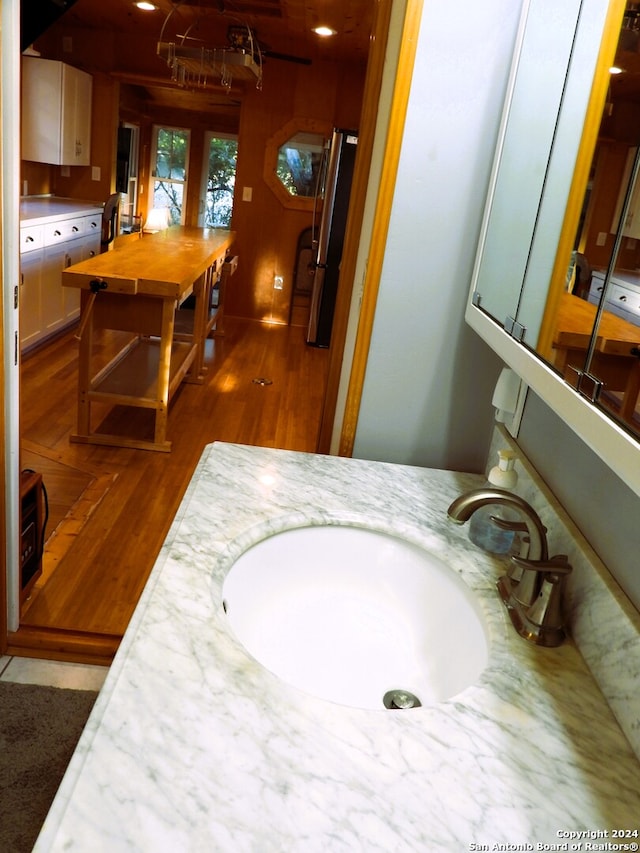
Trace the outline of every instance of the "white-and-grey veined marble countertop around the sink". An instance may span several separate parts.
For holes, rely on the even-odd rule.
[[[572,642],[517,636],[495,592],[504,564],[446,520],[481,480],[206,448],[35,850],[459,853],[637,830],[640,764],[583,658]],[[221,606],[233,560],[324,522],[404,533],[454,567],[489,625],[474,686],[432,707],[362,710],[288,687],[245,653]]]

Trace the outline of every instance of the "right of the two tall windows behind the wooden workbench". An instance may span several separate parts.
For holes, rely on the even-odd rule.
[[[237,160],[236,136],[207,133],[198,222],[201,227],[231,227]]]

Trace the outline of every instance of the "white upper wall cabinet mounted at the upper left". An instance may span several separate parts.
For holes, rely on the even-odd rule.
[[[90,74],[64,62],[22,60],[22,159],[88,166],[91,156]]]

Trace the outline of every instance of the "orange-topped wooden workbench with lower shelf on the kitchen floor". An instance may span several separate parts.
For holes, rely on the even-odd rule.
[[[224,261],[233,233],[173,226],[68,267],[66,287],[81,293],[78,359],[78,429],[75,442],[169,451],[169,401],[183,380],[202,381],[207,330],[206,294]],[[195,296],[193,329],[175,340],[175,313]],[[134,337],[98,371],[92,366],[98,329]],[[91,428],[91,404],[135,406],[155,411],[152,441]]]

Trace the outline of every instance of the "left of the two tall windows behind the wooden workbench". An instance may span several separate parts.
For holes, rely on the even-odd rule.
[[[152,207],[167,208],[172,225],[184,221],[189,162],[189,131],[155,127],[153,134]]]

